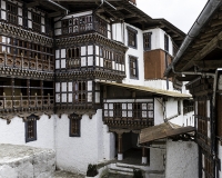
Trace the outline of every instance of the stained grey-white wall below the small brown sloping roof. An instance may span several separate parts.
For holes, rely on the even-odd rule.
[[[165,178],[198,177],[198,145],[193,141],[167,141]]]

